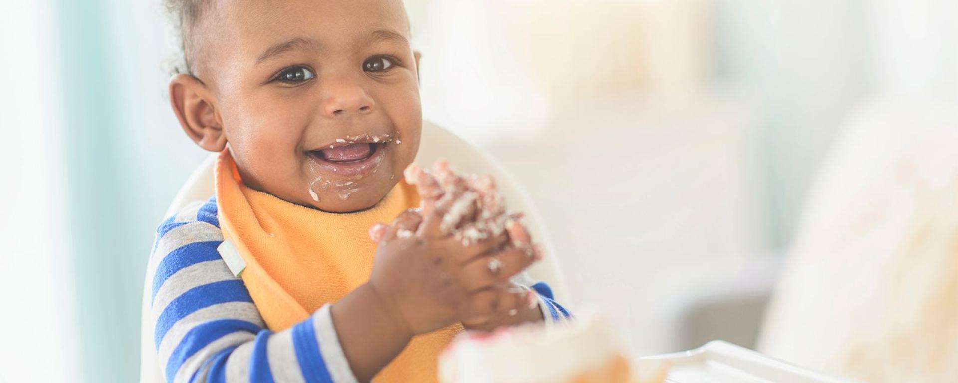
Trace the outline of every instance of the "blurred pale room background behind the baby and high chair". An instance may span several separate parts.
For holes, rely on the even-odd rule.
[[[513,172],[559,300],[634,355],[958,376],[955,1],[406,4],[423,117]],[[0,20],[0,382],[135,381],[153,231],[207,155],[169,107],[172,31],[159,0]]]

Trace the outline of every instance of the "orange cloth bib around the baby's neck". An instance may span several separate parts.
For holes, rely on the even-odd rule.
[[[216,167],[219,225],[246,262],[242,281],[266,326],[280,331],[306,320],[369,280],[376,244],[369,228],[419,206],[419,194],[400,181],[376,207],[331,214],[286,202],[243,185],[233,157]],[[462,326],[413,338],[376,375],[376,382],[435,382],[436,362]]]

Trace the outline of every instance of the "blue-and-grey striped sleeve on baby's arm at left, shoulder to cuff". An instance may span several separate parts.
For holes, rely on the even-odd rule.
[[[265,328],[242,280],[219,257],[216,201],[160,225],[148,263],[150,316],[167,382],[355,382],[330,305],[279,332]]]

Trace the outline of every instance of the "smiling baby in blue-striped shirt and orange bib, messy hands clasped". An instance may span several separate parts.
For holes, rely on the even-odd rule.
[[[167,381],[435,381],[464,327],[568,317],[518,282],[542,252],[490,177],[410,165],[400,0],[166,3],[173,111],[220,153],[216,195],[161,224],[148,265]]]

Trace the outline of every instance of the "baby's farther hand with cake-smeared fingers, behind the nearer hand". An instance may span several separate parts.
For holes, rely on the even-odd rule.
[[[527,267],[542,252],[532,246],[528,231],[519,223],[520,214],[507,216],[502,197],[490,176],[465,178],[445,162],[433,167],[435,177],[418,167],[406,171],[407,180],[416,184],[422,196],[422,210],[401,214],[392,225],[377,225],[370,231],[376,241],[390,236],[408,238],[449,237],[465,253],[471,271],[464,276],[471,285],[472,300],[468,315],[459,320],[466,327],[492,329],[522,322],[541,321],[535,291],[509,282],[509,277]],[[381,243],[381,242],[380,242]],[[523,254],[525,259],[504,259],[504,254]],[[516,268],[517,267],[517,268]],[[493,276],[492,283],[469,282]],[[507,276],[508,275],[508,276]],[[507,276],[506,278],[501,278]]]

